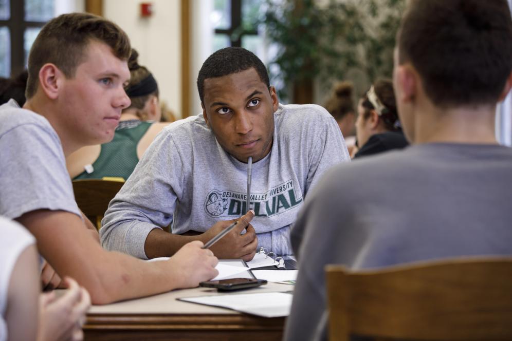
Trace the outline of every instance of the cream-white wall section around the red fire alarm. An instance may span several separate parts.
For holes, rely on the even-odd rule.
[[[103,0],[103,16],[129,35],[139,64],[155,76],[160,100],[181,117],[181,18],[179,0],[151,0],[153,15],[139,16],[140,0]],[[187,116],[187,115],[186,115]]]

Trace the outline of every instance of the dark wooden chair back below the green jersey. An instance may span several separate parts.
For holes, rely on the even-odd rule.
[[[116,196],[124,184],[122,178],[111,180],[81,179],[73,181],[73,191],[78,207],[96,228],[101,227],[101,219],[108,203]]]

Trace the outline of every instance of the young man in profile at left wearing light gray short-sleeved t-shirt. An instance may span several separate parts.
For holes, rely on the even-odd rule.
[[[0,107],[0,214],[22,223],[59,276],[75,278],[95,304],[194,287],[217,274],[216,257],[199,241],[152,263],[105,251],[75,202],[65,156],[112,139],[130,104],[130,51],[126,34],[103,18],[54,18],[30,52],[24,107]]]

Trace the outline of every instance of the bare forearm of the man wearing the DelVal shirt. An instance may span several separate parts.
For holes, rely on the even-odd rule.
[[[202,240],[198,236],[176,235],[161,229],[153,229],[144,242],[144,252],[148,258],[171,257],[183,245],[193,240]],[[202,240],[204,242],[204,240]]]

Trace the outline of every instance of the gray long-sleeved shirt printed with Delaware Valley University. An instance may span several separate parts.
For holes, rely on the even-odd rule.
[[[280,105],[272,149],[252,166],[250,207],[259,247],[291,254],[289,226],[309,188],[329,167],[350,160],[336,121],[317,105]],[[166,127],[110,203],[103,247],[147,258],[155,226],[206,231],[246,212],[247,164],[217,143],[203,115]]]

